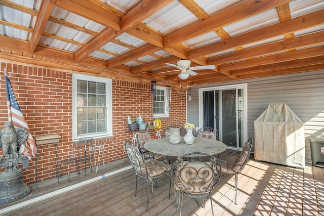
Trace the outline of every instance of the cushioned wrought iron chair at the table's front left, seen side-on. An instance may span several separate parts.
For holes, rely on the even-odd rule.
[[[140,153],[138,147],[131,141],[125,142],[125,151],[127,153],[127,157],[136,172],[136,185],[135,185],[135,194],[137,194],[137,179],[138,177],[147,179],[147,208],[148,210],[148,201],[149,201],[149,188],[150,186],[156,186],[161,183],[161,177],[163,175],[167,175],[170,178],[169,165],[158,161],[156,159],[148,159],[145,160],[143,155]],[[169,187],[169,199],[170,198],[170,190],[171,190],[171,178],[170,178],[170,187]]]

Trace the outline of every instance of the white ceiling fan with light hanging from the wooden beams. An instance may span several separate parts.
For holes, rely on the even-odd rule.
[[[196,75],[197,73],[194,72],[193,70],[205,70],[205,69],[215,69],[215,65],[203,65],[203,66],[195,66],[195,67],[190,67],[190,60],[179,60],[177,62],[177,65],[174,65],[174,64],[169,64],[169,63],[166,63],[167,65],[169,66],[172,66],[172,67],[176,67],[178,68],[178,70],[171,70],[171,71],[180,71],[181,70],[181,73],[179,73],[179,78],[180,79],[186,79],[189,77],[189,75]],[[165,72],[160,72],[160,73],[167,73],[167,72],[170,72],[170,71],[165,71]]]

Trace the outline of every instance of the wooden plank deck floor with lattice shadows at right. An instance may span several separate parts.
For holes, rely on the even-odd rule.
[[[234,158],[236,151],[226,150],[220,158]],[[126,169],[101,179],[101,175],[128,167],[127,159],[106,164],[96,172],[51,180],[30,186],[26,197],[0,206],[0,215],[179,215],[174,207],[174,194],[168,199],[169,179],[150,191],[146,211],[147,187],[139,179],[137,197],[135,172]],[[324,215],[324,169],[306,164],[304,169],[293,168],[252,159],[238,179],[237,205],[234,183],[222,178],[213,194],[215,215]],[[94,179],[100,179],[93,182]],[[89,184],[86,184],[89,183]],[[78,185],[79,187],[76,187]],[[75,186],[75,189],[72,188]],[[173,187],[173,186],[172,186]],[[64,193],[61,193],[65,191]],[[60,193],[58,193],[60,192]],[[48,198],[47,196],[52,196]],[[211,215],[209,200],[206,208],[195,200],[183,200],[182,215]]]

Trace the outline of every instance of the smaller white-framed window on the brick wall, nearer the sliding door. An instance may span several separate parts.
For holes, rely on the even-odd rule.
[[[153,94],[153,117],[169,117],[168,92],[165,87],[156,87]]]

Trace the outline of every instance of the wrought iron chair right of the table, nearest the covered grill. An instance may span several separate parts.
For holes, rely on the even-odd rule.
[[[253,148],[253,139],[250,138],[243,147],[243,150],[239,153],[239,155],[235,158],[233,162],[229,162],[226,160],[219,160],[222,173],[227,173],[234,175],[233,181],[235,181],[235,204],[237,204],[237,176],[244,169],[245,165],[250,159],[251,151]]]

